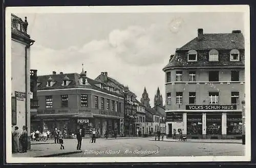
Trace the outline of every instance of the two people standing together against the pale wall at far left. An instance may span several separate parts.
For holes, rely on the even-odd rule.
[[[23,131],[20,133],[18,131],[18,127],[14,127],[14,131],[12,132],[12,153],[25,153],[28,149],[28,132],[27,126],[23,126]],[[20,143],[19,143],[20,142]],[[22,150],[19,150],[19,144],[22,145]]]

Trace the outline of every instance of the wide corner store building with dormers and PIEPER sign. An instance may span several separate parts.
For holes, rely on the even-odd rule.
[[[82,129],[90,136],[92,128],[100,135],[123,131],[124,98],[118,88],[105,85],[78,73],[38,76],[37,98],[39,107],[32,121],[33,129],[62,130],[66,136]]]

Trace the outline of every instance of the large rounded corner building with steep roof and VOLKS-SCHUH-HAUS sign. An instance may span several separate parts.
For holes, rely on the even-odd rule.
[[[165,72],[166,133],[188,138],[241,138],[245,98],[241,31],[203,34],[170,56]]]

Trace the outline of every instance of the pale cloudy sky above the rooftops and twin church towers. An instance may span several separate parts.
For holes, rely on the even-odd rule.
[[[170,54],[204,33],[244,32],[242,13],[14,13],[27,16],[31,69],[38,75],[101,72],[137,95],[144,87],[154,106],[157,87],[165,104],[163,67]]]

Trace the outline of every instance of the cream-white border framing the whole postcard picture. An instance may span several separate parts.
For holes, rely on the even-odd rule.
[[[250,161],[250,13],[248,5],[212,6],[84,6],[84,7],[7,7],[6,8],[6,111],[11,111],[11,13],[187,13],[187,12],[243,12],[245,37],[245,101],[246,145],[245,156],[177,156],[177,157],[12,157],[11,113],[6,113],[6,161],[7,163],[42,162],[198,162],[198,161]],[[10,94],[8,94],[10,93]]]

